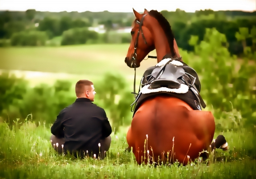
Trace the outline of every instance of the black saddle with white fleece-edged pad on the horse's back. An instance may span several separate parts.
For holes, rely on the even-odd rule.
[[[176,59],[177,58],[162,59],[156,66],[149,67],[144,72],[141,79],[142,90],[139,91],[134,103],[131,104],[132,108],[137,101],[141,101],[141,99],[139,99],[143,98],[141,96],[148,96],[150,93],[161,92],[171,92],[173,96],[178,97],[187,103],[194,101],[191,99],[195,97],[195,102],[198,101],[199,105],[203,108],[206,107],[206,104],[200,95],[201,83],[196,71],[186,63],[176,61]],[[193,97],[191,97],[191,94]],[[191,105],[191,107],[193,109],[199,109],[198,104],[197,106]],[[134,110],[136,108],[138,108],[138,105],[135,106]],[[132,112],[134,111],[132,110]]]

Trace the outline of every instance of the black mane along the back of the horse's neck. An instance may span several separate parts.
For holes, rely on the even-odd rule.
[[[148,12],[148,14],[152,17],[154,17],[156,20],[158,20],[158,23],[160,26],[163,28],[164,33],[166,34],[166,37],[168,39],[168,43],[171,49],[172,56],[175,56],[174,52],[174,33],[172,33],[171,25],[168,22],[164,16],[156,11],[156,10],[151,10]]]

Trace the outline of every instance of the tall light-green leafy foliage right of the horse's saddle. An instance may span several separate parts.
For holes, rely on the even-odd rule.
[[[191,66],[201,76],[201,95],[207,104],[217,109],[216,115],[233,109],[240,111],[246,119],[243,123],[255,125],[255,84],[251,83],[255,78],[255,63],[250,65],[246,59],[238,61],[230,56],[225,35],[214,28],[207,29],[204,40],[198,45],[197,39],[193,36],[189,41],[199,58]]]

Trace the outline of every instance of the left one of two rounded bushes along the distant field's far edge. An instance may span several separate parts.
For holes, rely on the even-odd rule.
[[[13,46],[43,46],[48,37],[46,32],[30,31],[18,32],[11,36],[11,45]]]

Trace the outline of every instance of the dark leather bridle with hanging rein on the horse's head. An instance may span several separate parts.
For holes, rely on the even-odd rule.
[[[138,20],[136,20],[136,23],[139,24],[139,31],[137,33],[137,37],[136,37],[136,41],[134,44],[134,53],[133,53],[133,61],[131,63],[131,66],[134,65],[134,83],[133,83],[133,93],[134,97],[136,98],[138,93],[135,92],[135,81],[136,81],[136,60],[137,60],[137,47],[138,47],[138,41],[139,41],[139,33],[141,32],[142,38],[144,40],[144,43],[147,44],[146,38],[144,36],[143,30],[142,30],[142,25],[143,25],[143,20],[145,18],[147,14],[144,14],[141,18],[141,22],[139,22]],[[148,56],[148,58],[157,58],[155,56]],[[140,86],[141,87],[141,86]]]

